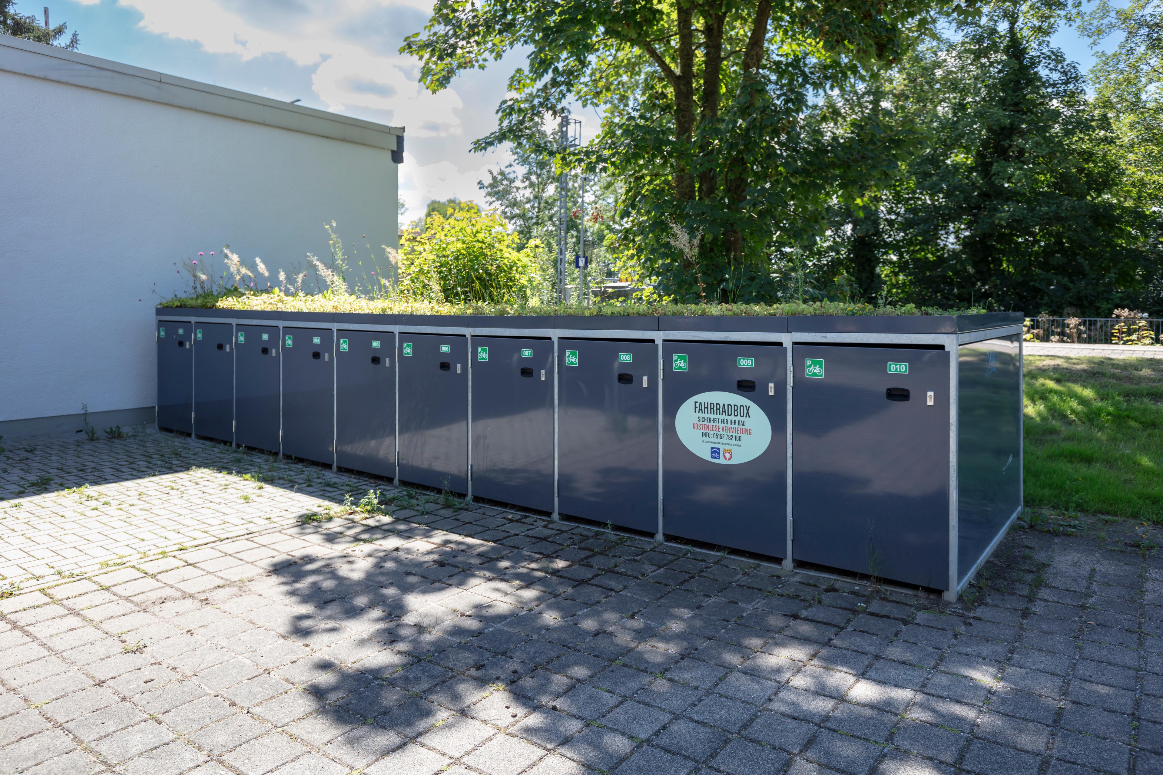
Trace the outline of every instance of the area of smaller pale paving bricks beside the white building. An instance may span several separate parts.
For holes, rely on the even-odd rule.
[[[0,443],[0,582],[24,588],[295,524],[377,482],[169,433]],[[233,473],[231,473],[233,472]],[[245,479],[243,479],[245,476]]]

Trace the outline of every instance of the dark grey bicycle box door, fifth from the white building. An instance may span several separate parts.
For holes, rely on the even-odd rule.
[[[335,464],[395,476],[395,335],[340,331],[335,353]]]

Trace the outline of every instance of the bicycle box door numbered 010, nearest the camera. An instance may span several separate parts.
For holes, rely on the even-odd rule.
[[[949,353],[797,344],[792,366],[793,559],[947,589]]]

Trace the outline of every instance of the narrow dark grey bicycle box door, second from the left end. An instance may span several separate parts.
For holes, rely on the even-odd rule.
[[[194,433],[234,440],[234,353],[229,323],[194,323]]]

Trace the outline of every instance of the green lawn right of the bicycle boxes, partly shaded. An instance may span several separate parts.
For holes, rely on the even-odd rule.
[[[1163,523],[1163,359],[1026,357],[1026,505]]]

